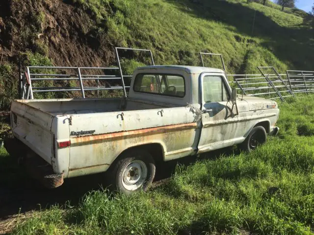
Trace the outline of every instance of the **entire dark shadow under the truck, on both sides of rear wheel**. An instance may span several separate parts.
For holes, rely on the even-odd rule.
[[[221,154],[233,154],[234,149],[225,148],[202,154],[199,158],[188,156],[179,160],[157,164],[154,187],[175,172],[177,164],[189,165],[200,159],[215,160]],[[52,205],[78,205],[82,196],[91,190],[106,188],[105,174],[94,174],[65,180],[59,188],[42,188],[37,182],[15,166],[10,156],[0,157],[0,219],[20,212],[41,210]],[[164,183],[161,183],[164,184]]]

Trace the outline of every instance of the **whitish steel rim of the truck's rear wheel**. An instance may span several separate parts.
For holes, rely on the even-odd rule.
[[[143,161],[134,160],[122,172],[122,185],[129,191],[141,188],[147,177],[147,166]]]

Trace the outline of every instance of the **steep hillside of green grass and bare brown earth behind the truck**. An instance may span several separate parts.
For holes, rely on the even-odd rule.
[[[282,12],[271,2],[4,0],[0,9],[2,109],[16,96],[19,56],[26,65],[47,64],[47,57],[57,66],[107,66],[115,64],[113,47],[122,46],[152,49],[157,64],[200,65],[198,52],[207,51],[222,53],[229,73],[255,73],[257,66],[313,70],[307,14]],[[205,63],[221,67],[218,59]]]

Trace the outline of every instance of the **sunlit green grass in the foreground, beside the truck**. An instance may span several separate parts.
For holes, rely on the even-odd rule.
[[[179,165],[147,193],[88,192],[78,206],[34,212],[13,234],[314,234],[312,99],[280,103],[279,135],[251,153]]]

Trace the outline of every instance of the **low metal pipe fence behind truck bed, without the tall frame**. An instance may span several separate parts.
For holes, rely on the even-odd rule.
[[[87,71],[101,71],[100,74],[89,74]],[[80,92],[85,98],[85,91],[96,90],[99,95],[101,90],[125,89],[123,86],[104,86],[101,81],[121,80],[122,78],[114,73],[119,68],[113,67],[43,67],[27,66],[25,74],[22,74],[21,98],[33,99],[34,93],[44,92]],[[64,71],[69,71],[65,73]],[[82,71],[86,71],[83,73]],[[94,81],[95,86],[84,86],[83,81]],[[63,86],[55,81],[65,83]],[[57,86],[59,85],[59,86]],[[123,84],[124,85],[124,84]]]

